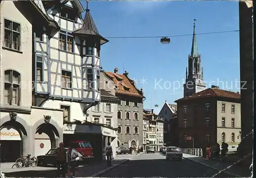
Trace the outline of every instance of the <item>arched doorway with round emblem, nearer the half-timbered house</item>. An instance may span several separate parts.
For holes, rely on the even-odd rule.
[[[56,139],[59,139],[59,132],[49,122],[40,124],[35,132],[35,156],[45,155],[49,149],[57,147]]]

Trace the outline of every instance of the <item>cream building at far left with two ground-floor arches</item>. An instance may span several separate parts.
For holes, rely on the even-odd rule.
[[[30,12],[24,15],[28,8]],[[63,111],[32,106],[32,29],[39,23],[50,23],[37,8],[31,1],[1,2],[2,162],[14,162],[20,155],[46,153],[62,141]]]

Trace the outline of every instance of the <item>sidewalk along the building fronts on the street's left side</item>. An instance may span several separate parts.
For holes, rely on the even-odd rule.
[[[95,177],[99,174],[102,174],[109,169],[123,164],[126,161],[129,161],[133,157],[138,155],[120,155],[116,156],[112,162],[112,166],[106,166],[106,162],[95,162],[90,165],[80,165],[76,168],[76,177]],[[56,167],[26,167],[26,168],[13,168],[11,166],[14,163],[1,163],[1,170],[7,177],[58,177]],[[72,174],[71,174],[72,175]]]

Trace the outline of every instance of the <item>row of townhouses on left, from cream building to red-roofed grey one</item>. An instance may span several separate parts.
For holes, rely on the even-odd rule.
[[[62,141],[89,141],[101,159],[107,142],[114,152],[142,145],[143,91],[127,72],[100,67],[108,40],[88,4],[2,1],[0,29],[3,162],[45,155]]]

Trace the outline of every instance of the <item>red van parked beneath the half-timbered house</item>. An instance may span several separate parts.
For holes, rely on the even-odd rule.
[[[72,147],[76,148],[83,158],[93,158],[93,148],[89,141],[72,141]]]

